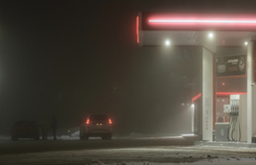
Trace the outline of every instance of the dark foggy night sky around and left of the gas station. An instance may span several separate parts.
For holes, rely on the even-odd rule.
[[[89,113],[108,113],[118,134],[190,129],[176,120],[190,117],[180,104],[191,100],[200,50],[138,47],[138,12],[255,7],[254,0],[1,1],[0,132],[51,115],[74,128]]]

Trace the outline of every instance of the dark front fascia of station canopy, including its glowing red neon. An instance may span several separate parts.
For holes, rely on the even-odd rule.
[[[144,31],[256,31],[256,14],[143,12],[142,22]]]

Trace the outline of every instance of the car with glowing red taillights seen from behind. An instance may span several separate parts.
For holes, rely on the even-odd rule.
[[[108,115],[89,115],[80,125],[80,139],[89,137],[112,138],[112,120]]]

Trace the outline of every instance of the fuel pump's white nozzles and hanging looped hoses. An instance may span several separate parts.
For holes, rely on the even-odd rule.
[[[229,141],[240,141],[241,129],[239,122],[239,95],[230,95],[229,129],[227,138]]]

